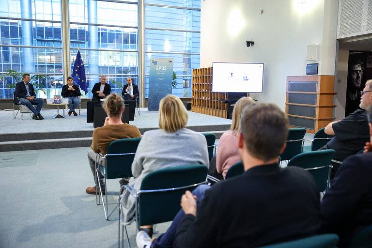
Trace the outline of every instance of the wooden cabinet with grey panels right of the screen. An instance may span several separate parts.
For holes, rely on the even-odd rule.
[[[315,133],[332,122],[334,76],[287,77],[285,113],[291,128]]]

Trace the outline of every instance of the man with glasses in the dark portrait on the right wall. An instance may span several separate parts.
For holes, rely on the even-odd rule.
[[[351,63],[346,89],[345,116],[359,109],[360,87],[362,83],[364,64],[359,60]]]

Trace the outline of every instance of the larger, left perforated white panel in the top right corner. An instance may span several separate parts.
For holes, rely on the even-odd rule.
[[[342,0],[339,35],[361,32],[363,0]]]

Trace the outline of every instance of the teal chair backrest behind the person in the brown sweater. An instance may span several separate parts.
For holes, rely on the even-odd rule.
[[[112,141],[106,150],[107,179],[132,177],[132,163],[141,138]]]

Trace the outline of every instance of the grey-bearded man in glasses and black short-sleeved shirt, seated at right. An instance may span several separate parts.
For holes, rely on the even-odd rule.
[[[372,79],[367,80],[366,86],[361,91],[359,108],[340,121],[331,122],[325,127],[324,132],[335,137],[322,149],[336,151],[333,159],[343,161],[346,157],[361,151],[366,142],[370,140],[370,129],[367,121],[366,110],[372,106]],[[332,163],[331,178],[340,167],[338,163]]]

